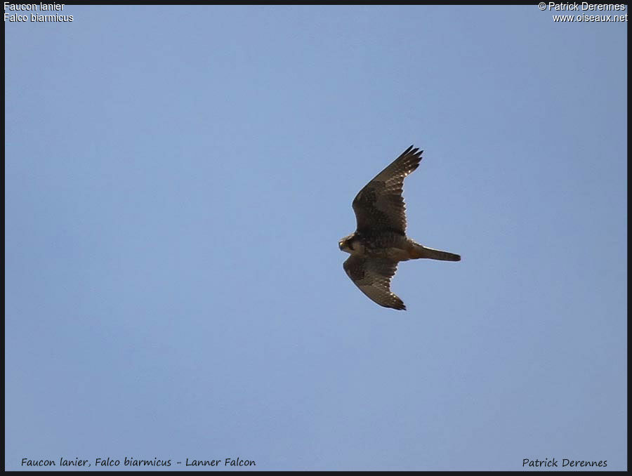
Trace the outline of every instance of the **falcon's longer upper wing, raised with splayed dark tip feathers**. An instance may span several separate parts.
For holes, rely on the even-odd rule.
[[[406,232],[402,187],[404,178],[419,166],[422,152],[411,145],[358,192],[353,211],[359,232]]]

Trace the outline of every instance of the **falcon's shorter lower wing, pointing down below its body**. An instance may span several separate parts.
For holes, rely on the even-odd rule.
[[[397,271],[397,261],[352,255],[343,267],[351,281],[371,300],[385,308],[406,310],[402,300],[390,292],[390,279]]]

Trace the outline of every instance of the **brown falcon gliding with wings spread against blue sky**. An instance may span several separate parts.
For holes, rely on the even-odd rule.
[[[405,310],[400,298],[390,292],[390,279],[400,261],[430,258],[460,261],[461,256],[427,248],[406,236],[406,206],[402,197],[404,178],[421,161],[423,150],[411,145],[378,173],[353,199],[357,229],[338,242],[351,256],[343,267],[351,281],[385,308]]]

